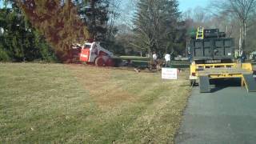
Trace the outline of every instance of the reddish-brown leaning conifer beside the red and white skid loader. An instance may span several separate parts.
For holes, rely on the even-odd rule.
[[[72,58],[72,44],[89,38],[88,30],[78,17],[77,8],[71,0],[25,0],[18,4],[31,24],[45,36],[58,58],[64,62]]]

